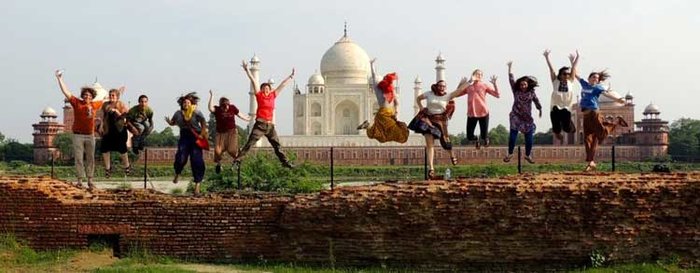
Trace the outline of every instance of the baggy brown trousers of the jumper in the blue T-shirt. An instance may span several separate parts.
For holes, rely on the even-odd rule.
[[[594,110],[583,112],[583,137],[586,147],[586,161],[595,160],[595,152],[598,144],[603,142],[610,132],[615,130],[616,125],[603,120],[603,117]]]

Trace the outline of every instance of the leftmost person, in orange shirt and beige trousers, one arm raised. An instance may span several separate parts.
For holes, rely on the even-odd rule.
[[[63,82],[63,71],[56,71],[56,79],[61,92],[66,100],[73,106],[73,155],[75,157],[75,169],[78,175],[78,187],[82,187],[82,181],[86,177],[88,188],[93,189],[92,177],[95,173],[95,116],[97,110],[102,107],[102,101],[93,101],[97,92],[91,87],[80,89],[80,99],[73,96]],[[83,156],[85,159],[83,159]],[[87,166],[85,162],[87,161]]]

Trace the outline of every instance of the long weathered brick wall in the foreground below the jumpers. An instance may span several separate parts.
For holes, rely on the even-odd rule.
[[[317,194],[90,194],[0,177],[0,230],[40,249],[118,234],[119,248],[204,261],[461,271],[676,254],[700,262],[700,173],[554,173],[342,187]]]

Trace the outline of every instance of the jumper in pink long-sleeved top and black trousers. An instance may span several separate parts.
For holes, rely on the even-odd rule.
[[[496,85],[498,78],[495,75],[491,76],[490,85],[482,81],[483,77],[484,73],[481,70],[474,70],[469,80],[470,84],[457,95],[457,97],[467,95],[467,140],[476,141],[477,149],[481,147],[479,139],[474,135],[477,122],[481,131],[481,140],[484,141],[484,146],[489,146],[489,108],[486,106],[486,94],[496,98],[501,96]]]

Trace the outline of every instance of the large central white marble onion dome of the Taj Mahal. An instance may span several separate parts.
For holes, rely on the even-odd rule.
[[[321,74],[327,83],[367,84],[369,56],[364,49],[343,36],[321,58]]]

